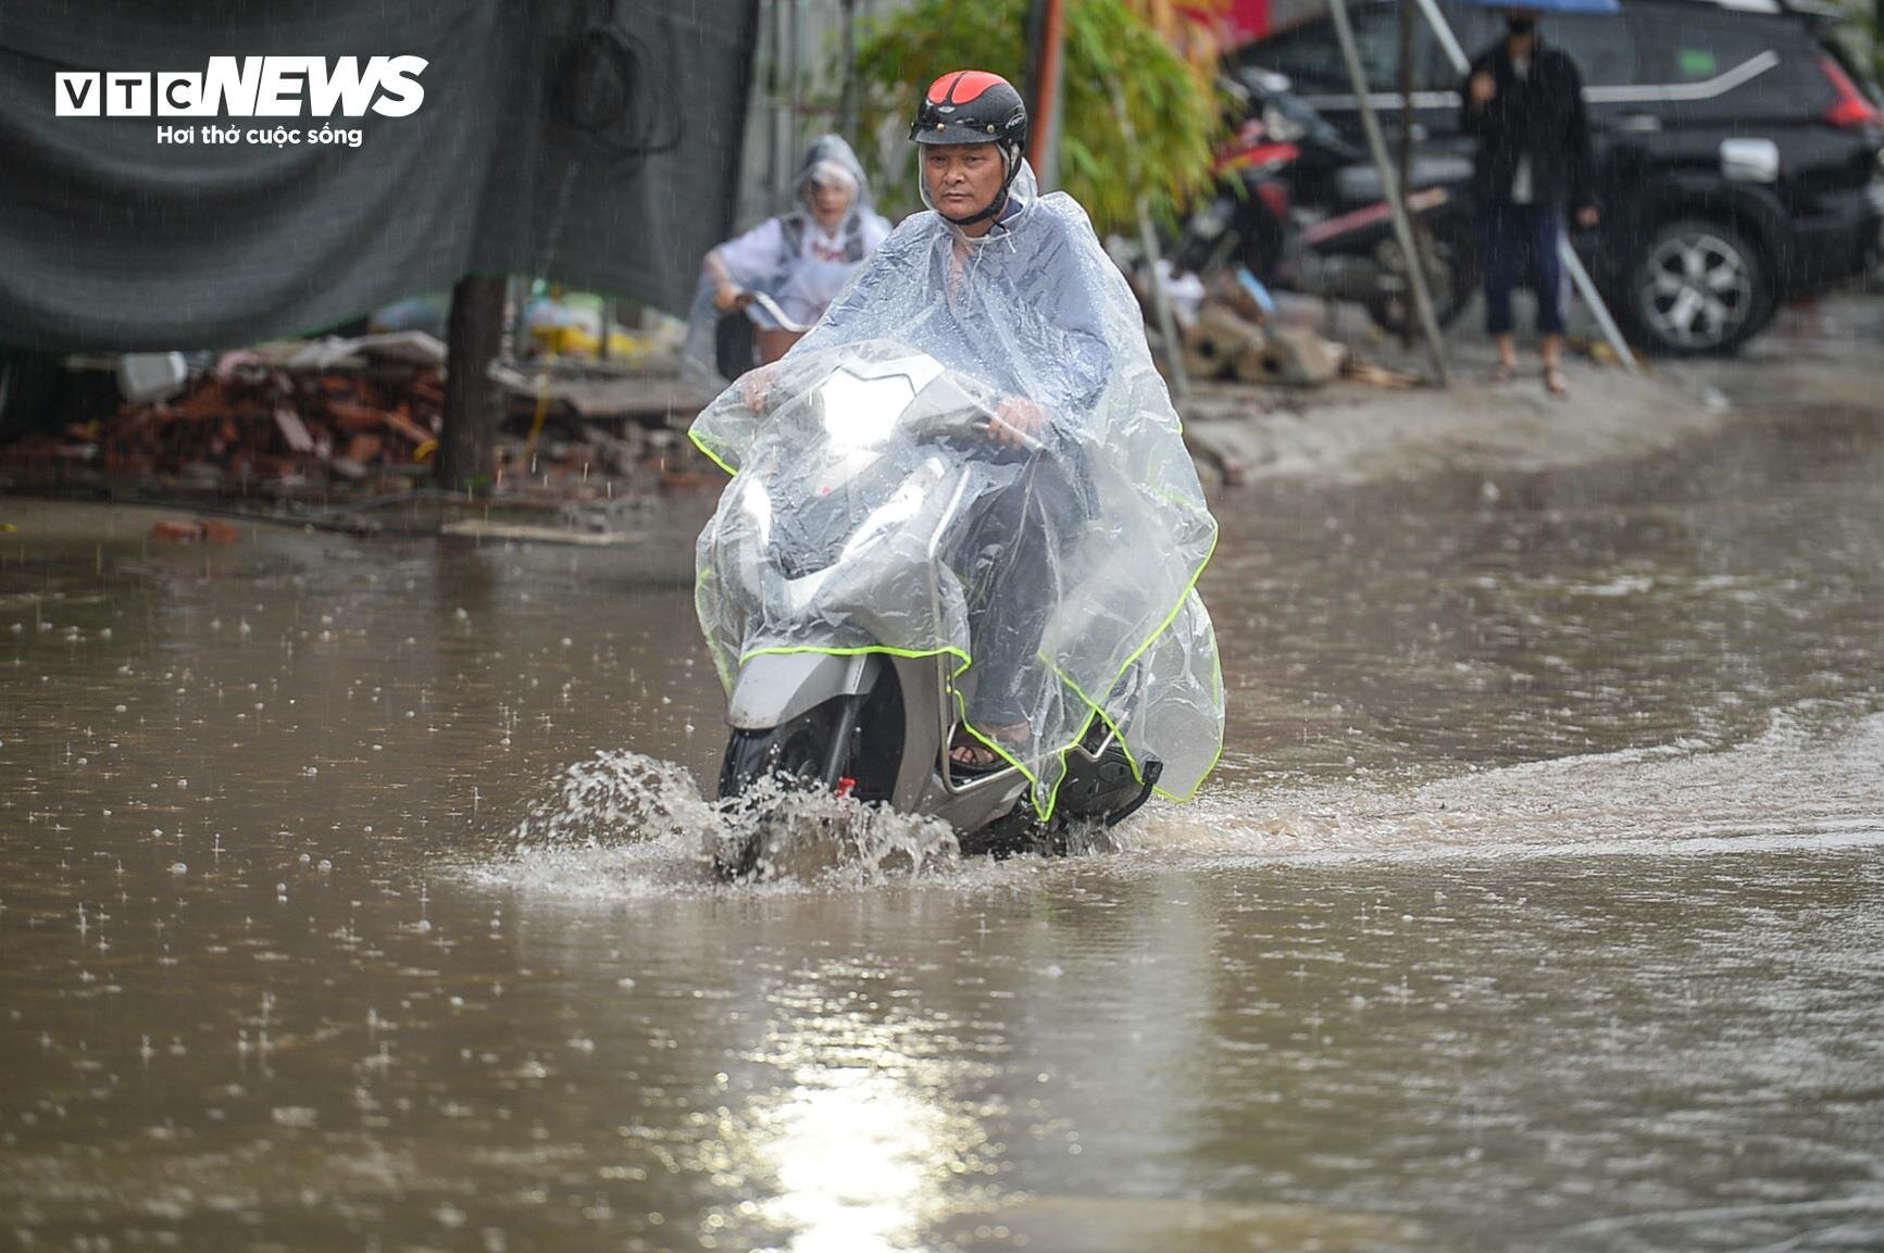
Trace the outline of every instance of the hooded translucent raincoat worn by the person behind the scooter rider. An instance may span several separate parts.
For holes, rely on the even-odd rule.
[[[850,213],[835,232],[827,234],[812,215],[808,196],[810,188],[833,171],[848,175],[855,192]],[[795,209],[759,222],[737,239],[727,239],[714,249],[714,254],[737,286],[765,292],[778,301],[788,318],[810,326],[884,243],[889,220],[876,211],[870,179],[865,177],[857,155],[842,136],[821,136],[806,149],[793,188],[799,198]],[[723,315],[712,301],[714,290],[712,277],[703,271],[688,311],[684,364],[691,381],[718,390],[725,386],[725,379],[714,362],[714,332]],[[750,317],[761,326],[771,326],[759,311],[752,311]]]

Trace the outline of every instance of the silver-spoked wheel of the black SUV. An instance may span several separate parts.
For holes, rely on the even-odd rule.
[[[1626,307],[1650,350],[1726,354],[1765,326],[1773,288],[1745,234],[1684,219],[1656,230],[1635,252]]]

